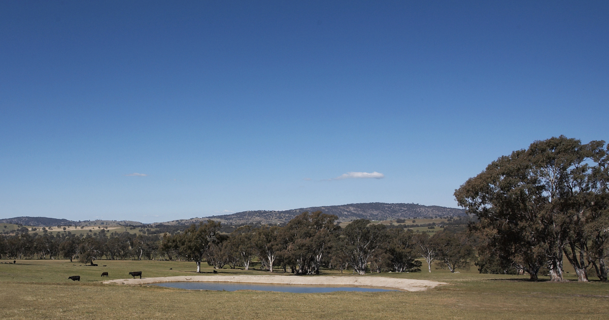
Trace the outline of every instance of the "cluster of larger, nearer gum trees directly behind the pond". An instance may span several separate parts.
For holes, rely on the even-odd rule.
[[[468,268],[474,257],[465,228],[447,227],[429,236],[401,228],[387,228],[358,219],[340,228],[337,217],[322,212],[304,212],[286,226],[240,227],[230,234],[219,233],[219,222],[201,222],[183,233],[165,235],[161,250],[173,258],[194,261],[200,272],[202,261],[214,268],[250,268],[256,258],[260,269],[293,274],[319,274],[320,268],[366,272],[420,271],[421,261],[455,272]]]

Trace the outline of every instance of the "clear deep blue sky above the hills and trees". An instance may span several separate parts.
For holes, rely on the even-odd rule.
[[[609,140],[608,16],[607,1],[2,1],[0,218],[456,207],[468,177],[534,140]]]

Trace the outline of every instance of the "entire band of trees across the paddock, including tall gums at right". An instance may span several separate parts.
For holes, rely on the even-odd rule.
[[[241,226],[222,232],[208,220],[164,234],[86,235],[20,230],[0,236],[0,258],[181,260],[214,268],[269,272],[458,272],[550,276],[563,281],[570,263],[580,282],[607,281],[609,255],[609,146],[565,137],[535,141],[488,165],[455,192],[474,219],[431,236],[407,225],[356,219],[341,228],[336,215],[304,212],[284,226]],[[399,221],[404,222],[404,221]],[[414,222],[414,221],[413,221]],[[411,225],[415,226],[415,225]],[[418,227],[418,225],[416,225]],[[431,228],[433,226],[430,226]],[[25,229],[25,228],[22,228]],[[566,258],[566,262],[563,261]]]

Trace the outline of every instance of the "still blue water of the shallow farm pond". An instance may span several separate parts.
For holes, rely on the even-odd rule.
[[[361,286],[319,286],[319,285],[280,285],[275,283],[239,283],[239,282],[160,282],[151,283],[152,285],[166,286],[169,288],[180,288],[188,290],[214,290],[214,291],[237,291],[237,290],[257,290],[257,291],[276,291],[289,293],[325,293],[334,291],[398,291],[390,289],[379,289]]]

